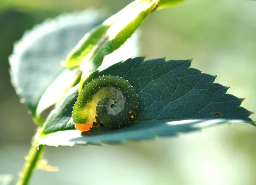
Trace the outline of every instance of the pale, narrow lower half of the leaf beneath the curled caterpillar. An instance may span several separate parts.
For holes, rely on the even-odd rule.
[[[93,127],[90,131],[81,135],[79,130],[66,130],[51,133],[39,141],[41,145],[49,146],[75,146],[75,145],[101,145],[120,144],[127,141],[141,141],[154,139],[156,136],[177,136],[179,133],[186,133],[201,130],[204,127],[224,123],[242,123],[243,120],[232,119],[184,119],[179,121],[158,120],[139,121],[131,123],[131,126],[118,130],[106,130],[104,127]]]

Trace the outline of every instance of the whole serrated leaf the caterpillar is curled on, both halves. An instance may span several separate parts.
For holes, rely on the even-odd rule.
[[[111,142],[113,133],[118,136],[122,135],[119,138],[121,140],[114,139],[113,142],[123,142],[126,134],[127,139],[133,140],[150,139],[154,135],[174,136],[176,132],[183,129],[185,131],[194,130],[193,121],[188,121],[189,119],[204,119],[201,120],[204,122],[207,119],[222,118],[221,123],[230,121],[230,119],[240,120],[239,122],[242,122],[241,120],[251,122],[251,119],[248,118],[251,112],[239,107],[243,99],[225,94],[228,87],[213,83],[215,76],[201,73],[198,69],[189,68],[191,60],[165,61],[163,58],[143,60],[142,57],[128,59],[102,72],[92,74],[85,81],[86,84],[87,81],[98,77],[98,75],[122,76],[134,86],[138,93],[139,113],[135,123],[122,129],[107,131],[103,127],[93,127],[85,133],[84,139],[78,140],[79,144],[86,144],[89,141],[90,143]],[[43,134],[75,129],[71,113],[77,95],[78,85],[70,89],[63,101],[48,116]],[[172,121],[177,120],[186,120],[191,124],[187,124],[184,128],[182,128],[183,126],[179,126],[178,129],[172,128],[170,126]],[[180,124],[180,122],[174,123]],[[216,120],[211,123],[218,124],[219,121]],[[164,130],[169,130],[169,135],[168,132],[162,134]],[[128,133],[125,133],[126,131]],[[76,133],[75,135],[78,137],[79,132],[70,133]],[[70,137],[73,138],[73,135],[70,136],[68,133],[65,132],[66,140],[63,138],[65,141]],[[108,133],[110,136],[106,136]],[[56,133],[56,136],[58,134],[61,133]],[[89,135],[97,136],[97,140],[94,142],[88,140],[87,136]],[[105,140],[105,136],[110,139]],[[58,141],[59,144],[52,140],[55,143],[53,145],[62,145],[61,141]],[[52,144],[47,141],[47,145]]]

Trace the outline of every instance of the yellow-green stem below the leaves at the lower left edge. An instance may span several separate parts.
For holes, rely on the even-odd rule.
[[[28,156],[26,157],[26,162],[23,166],[16,185],[27,185],[29,183],[29,180],[31,179],[32,174],[36,168],[38,159],[41,159],[41,156],[44,154],[44,147],[44,145],[38,146],[37,141],[32,142],[32,146],[29,150]]]

